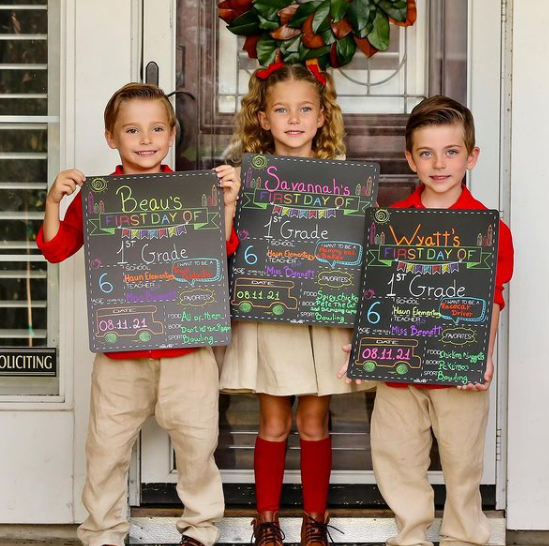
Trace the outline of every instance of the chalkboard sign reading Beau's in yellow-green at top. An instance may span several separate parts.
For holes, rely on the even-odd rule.
[[[88,178],[90,349],[230,340],[223,197],[211,171]]]

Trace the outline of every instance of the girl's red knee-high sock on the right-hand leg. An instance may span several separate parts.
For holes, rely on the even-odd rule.
[[[332,439],[328,437],[317,442],[300,442],[303,509],[308,514],[324,514],[332,471]]]

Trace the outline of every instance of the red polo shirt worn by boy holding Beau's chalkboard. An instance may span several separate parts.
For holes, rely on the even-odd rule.
[[[161,166],[161,172],[172,173],[172,169],[167,165]],[[122,165],[118,165],[111,176],[123,175]],[[59,225],[57,235],[48,242],[44,241],[43,226],[36,237],[36,244],[42,251],[42,254],[50,263],[59,263],[75,254],[84,244],[84,225],[82,219],[82,201],[79,196],[72,201],[65,214],[65,219]],[[231,238],[227,241],[227,255],[234,254],[238,247],[238,238],[236,232],[232,231]],[[138,358],[169,358],[182,356],[194,351],[194,348],[178,349],[153,349],[152,351],[124,351],[115,353],[105,353],[106,356],[114,360],[134,360]]]

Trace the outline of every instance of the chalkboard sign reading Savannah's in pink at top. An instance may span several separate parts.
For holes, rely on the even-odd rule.
[[[246,154],[231,267],[237,320],[352,327],[379,166]]]

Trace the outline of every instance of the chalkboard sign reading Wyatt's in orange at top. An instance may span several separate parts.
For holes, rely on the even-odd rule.
[[[369,209],[351,378],[484,383],[499,215]]]

